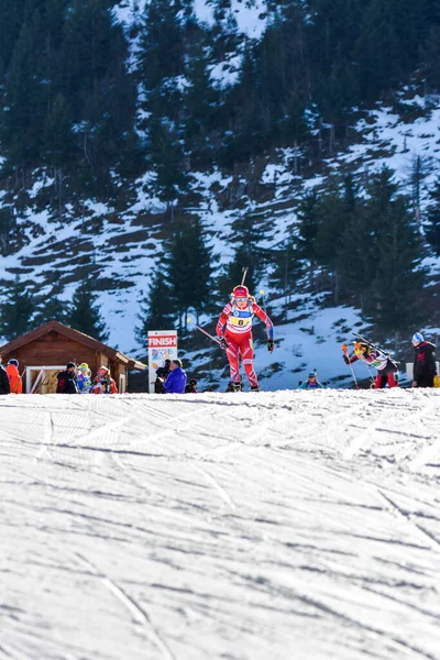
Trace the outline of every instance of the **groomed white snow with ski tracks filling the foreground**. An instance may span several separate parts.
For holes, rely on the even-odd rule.
[[[440,392],[0,397],[0,658],[440,658]]]

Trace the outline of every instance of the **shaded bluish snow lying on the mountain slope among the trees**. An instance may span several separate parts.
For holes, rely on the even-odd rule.
[[[135,66],[138,43],[132,29],[142,20],[147,2],[123,0],[114,6],[116,20],[124,25],[131,40],[132,66]],[[215,9],[222,8],[222,20],[237,25],[238,34],[258,40],[271,20],[270,7],[273,12],[274,3],[265,0],[231,0],[226,3],[195,0],[194,12],[200,23],[212,25],[221,14],[216,13]],[[229,54],[228,58],[232,59],[232,67],[229,59],[217,65],[212,63],[211,76],[220,87],[237,81],[240,48]],[[397,97],[395,108],[378,103],[375,110],[363,112],[362,119],[350,129],[349,150],[334,152],[324,166],[322,163],[316,165],[315,175],[309,163],[306,168],[309,178],[304,178],[301,174],[301,163],[305,164],[301,160],[308,161],[308,156],[301,147],[292,146],[255,160],[251,164],[252,182],[249,180],[251,172],[248,165],[238,167],[233,175],[218,167],[209,172],[191,172],[191,206],[185,207],[185,212],[195,213],[204,221],[211,237],[213,256],[218,258],[217,272],[233,258],[237,242],[232,226],[238,219],[252,215],[256,219],[267,220],[272,233],[267,235],[264,248],[279,250],[283,240],[295,227],[297,204],[302,193],[319,187],[328,174],[344,167],[359,176],[362,186],[367,173],[387,165],[396,172],[396,180],[404,190],[410,194],[410,170],[419,158],[424,170],[420,180],[422,215],[429,201],[429,190],[438,178],[440,101],[435,96],[421,98],[410,88],[403,89]],[[403,108],[405,117],[404,112],[398,114],[398,109]],[[321,129],[320,139],[327,140],[329,131],[324,127]],[[152,275],[161,261],[163,215],[166,212],[166,205],[157,199],[154,174],[144,172],[138,179],[124,182],[124,185],[116,180],[114,185],[124,191],[118,201],[110,199],[105,204],[102,200],[81,199],[80,211],[67,204],[62,220],[54,219],[50,210],[44,208],[46,202],[43,200],[47,199],[53,178],[45,172],[34,173],[34,184],[29,190],[29,206],[18,219],[26,240],[16,253],[1,260],[0,279],[12,282],[15,274],[20,273],[34,287],[34,293],[46,299],[53,293],[56,273],[56,285],[64,286],[61,298],[70,301],[78,284],[77,277],[84,275],[84,271],[92,264],[98,272],[96,282],[102,318],[110,330],[108,343],[143,358],[145,349],[135,337],[135,328],[140,326],[140,302],[147,294]],[[255,190],[257,194],[254,194]],[[0,190],[0,207],[4,197],[6,191]],[[425,261],[431,283],[440,276],[439,264],[440,260],[433,256]],[[340,359],[338,343],[350,340],[353,328],[367,333],[358,310],[345,307],[322,310],[316,296],[307,295],[307,292],[302,295],[301,289],[307,287],[301,287],[299,283],[297,308],[285,315],[284,297],[280,297],[279,290],[275,290],[270,271],[265,279],[258,283],[257,290],[252,292],[258,298],[258,290],[264,289],[265,304],[277,318],[283,318],[283,324],[277,323],[275,329],[276,351],[273,355],[267,355],[264,349],[257,350],[256,369],[263,376],[264,388],[296,386],[298,380],[315,366],[322,380],[333,380],[333,383],[340,384],[346,376],[345,383],[349,383],[350,372]],[[231,288],[234,284],[231,283]],[[218,301],[219,312],[224,302]],[[201,322],[205,324],[209,320],[202,318]],[[346,329],[346,332],[341,332],[342,329]],[[419,329],[408,328],[405,339],[409,340],[413,332]],[[438,331],[430,327],[428,319],[421,329],[428,331],[430,338]],[[376,340],[375,337],[371,339]],[[3,341],[0,338],[0,343]],[[193,354],[185,355],[185,366],[189,371],[208,371],[206,353],[201,359],[197,358],[207,346],[208,342],[205,346],[198,346]],[[391,349],[389,345],[385,348]],[[402,359],[402,355],[397,358]],[[363,366],[355,369],[359,377],[369,375]],[[212,380],[223,388],[220,372],[215,373]],[[208,385],[211,385],[208,380],[202,382],[202,387]]]

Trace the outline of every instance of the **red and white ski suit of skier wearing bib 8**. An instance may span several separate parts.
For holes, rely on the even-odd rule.
[[[239,384],[241,381],[239,365],[241,355],[249,384],[252,388],[256,389],[258,381],[253,364],[254,346],[252,340],[252,318],[254,315],[266,324],[267,339],[273,340],[274,324],[266,312],[255,302],[254,298],[249,298],[248,306],[244,309],[239,309],[233,300],[228,302],[220,315],[216,331],[219,338],[224,337],[228,342],[227,355],[231,383]],[[224,326],[226,331],[223,334]]]

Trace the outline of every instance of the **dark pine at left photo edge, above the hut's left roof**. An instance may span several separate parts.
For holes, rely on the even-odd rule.
[[[0,337],[11,341],[34,327],[33,295],[19,276],[4,290],[0,301]]]

